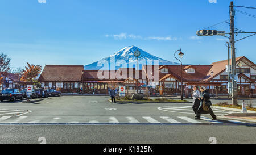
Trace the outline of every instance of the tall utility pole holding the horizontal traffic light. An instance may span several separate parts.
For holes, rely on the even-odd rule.
[[[237,106],[237,70],[236,70],[236,49],[234,47],[234,3],[230,2],[230,47],[231,47],[231,85],[232,85],[232,104]]]

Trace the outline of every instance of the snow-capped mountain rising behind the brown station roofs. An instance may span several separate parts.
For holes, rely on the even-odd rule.
[[[139,49],[135,46],[129,46],[121,49],[120,51],[114,53],[113,55],[110,55],[109,57],[102,58],[100,61],[93,62],[92,64],[85,65],[85,70],[98,70],[98,69],[119,69],[119,68],[133,68],[134,65],[131,66],[131,64],[136,64],[136,57],[134,56],[134,52],[138,49],[138,51],[141,52],[141,55],[138,57],[139,64],[146,65],[148,61],[152,61],[152,64],[154,64],[154,60],[158,60],[159,65],[177,65],[176,62],[171,62],[164,60],[162,58],[156,57],[151,55],[150,53],[147,53],[143,51],[142,49]],[[127,66],[119,66],[117,62],[120,62],[121,60],[125,60],[127,63]],[[108,62],[109,66],[106,65],[106,62]],[[112,63],[110,65],[110,62]],[[114,62],[114,63],[113,63]],[[105,65],[103,65],[105,64]],[[130,65],[129,65],[130,64]],[[104,66],[104,67],[102,67]],[[139,67],[141,69],[141,66]]]

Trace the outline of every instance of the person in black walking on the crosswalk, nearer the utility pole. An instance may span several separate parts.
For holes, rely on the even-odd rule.
[[[209,99],[210,99],[210,95],[207,92],[205,87],[200,87],[200,97],[198,98],[201,102],[200,102],[200,106],[196,112],[196,119],[200,119],[201,113],[204,111],[203,110],[203,103],[205,103],[205,105],[209,108],[208,111],[204,111],[204,113],[210,113],[210,115],[212,116],[213,120],[217,119],[216,115],[213,113],[212,108],[210,108],[210,104],[209,104]]]

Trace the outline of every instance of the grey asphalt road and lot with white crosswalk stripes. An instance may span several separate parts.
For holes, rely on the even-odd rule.
[[[191,103],[110,103],[94,96],[2,102],[0,143],[39,143],[39,137],[46,143],[209,143],[209,137],[256,143],[255,123],[211,120],[209,114],[194,118]]]

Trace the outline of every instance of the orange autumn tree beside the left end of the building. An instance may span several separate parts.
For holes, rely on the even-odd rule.
[[[34,64],[29,64],[27,62],[27,66],[22,72],[22,81],[36,81],[36,77],[38,77],[38,74],[41,73],[42,66],[40,65],[34,65]]]

